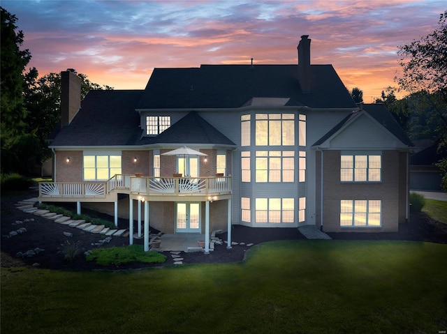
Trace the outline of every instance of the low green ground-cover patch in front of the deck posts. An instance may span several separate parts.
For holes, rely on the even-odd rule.
[[[166,256],[159,252],[145,252],[142,245],[130,245],[126,247],[96,248],[87,255],[87,261],[96,261],[100,266],[115,264],[131,264],[141,262],[145,264],[163,264]]]

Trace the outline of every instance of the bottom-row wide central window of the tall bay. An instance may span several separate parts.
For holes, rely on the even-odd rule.
[[[295,214],[293,198],[256,198],[257,223],[290,223]]]

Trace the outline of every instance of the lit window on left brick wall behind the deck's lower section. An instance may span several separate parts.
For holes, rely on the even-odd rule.
[[[106,181],[121,174],[121,155],[84,154],[82,169],[84,181]]]

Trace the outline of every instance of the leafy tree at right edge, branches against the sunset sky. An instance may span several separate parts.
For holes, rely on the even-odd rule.
[[[447,150],[447,10],[439,16],[439,28],[420,40],[399,47],[402,77],[396,77],[400,89],[417,96],[426,112],[434,112],[438,151]],[[446,166],[441,160],[439,166]],[[447,190],[447,174],[442,185]]]

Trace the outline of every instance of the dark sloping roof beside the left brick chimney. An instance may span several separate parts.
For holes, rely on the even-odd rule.
[[[51,146],[132,145],[140,139],[140,115],[135,107],[142,90],[89,91],[81,109],[61,128]]]

